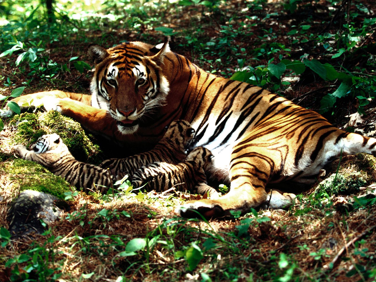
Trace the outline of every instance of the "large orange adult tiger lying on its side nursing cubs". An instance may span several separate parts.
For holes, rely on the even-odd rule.
[[[206,217],[248,211],[267,199],[267,183],[312,183],[341,152],[376,152],[376,139],[337,129],[316,112],[257,86],[207,73],[171,52],[167,42],[89,45],[88,53],[96,64],[91,96],[50,91],[14,101],[22,106],[41,99],[46,108],[132,150],[152,147],[173,120],[190,122],[193,144],[211,150],[215,176],[229,179],[231,188],[216,200],[186,202],[182,215],[190,216],[188,208]],[[286,199],[276,193],[271,202],[278,206]]]

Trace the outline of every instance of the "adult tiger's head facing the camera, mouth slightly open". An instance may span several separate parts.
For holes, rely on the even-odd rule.
[[[89,45],[88,54],[96,64],[92,106],[108,110],[121,133],[136,132],[139,121],[163,105],[169,91],[162,71],[168,52],[168,42],[124,42],[109,49]]]

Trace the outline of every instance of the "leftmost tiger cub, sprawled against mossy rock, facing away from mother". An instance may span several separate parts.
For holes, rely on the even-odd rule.
[[[77,161],[56,133],[39,137],[30,146],[31,151],[24,145],[13,148],[21,158],[44,165],[53,174],[63,177],[77,188],[84,188],[86,192],[92,190],[106,193],[111,187],[112,179],[107,170]]]

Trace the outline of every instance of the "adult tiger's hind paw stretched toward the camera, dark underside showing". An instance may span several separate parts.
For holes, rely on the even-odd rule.
[[[183,203],[176,208],[176,213],[185,218],[217,218],[225,215],[223,208],[210,199],[193,200]]]

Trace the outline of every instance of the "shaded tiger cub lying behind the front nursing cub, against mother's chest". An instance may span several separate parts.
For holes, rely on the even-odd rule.
[[[99,166],[109,168],[112,176],[128,174],[130,179],[130,176],[143,165],[153,162],[177,164],[185,159],[185,150],[193,139],[194,132],[188,121],[175,120],[171,122],[164,137],[152,150],[125,159],[108,159]]]

